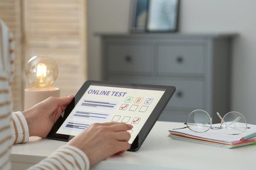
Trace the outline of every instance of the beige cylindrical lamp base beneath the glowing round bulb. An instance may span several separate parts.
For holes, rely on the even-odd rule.
[[[30,109],[33,105],[47,99],[48,97],[60,97],[59,88],[26,88],[24,90],[24,110]]]

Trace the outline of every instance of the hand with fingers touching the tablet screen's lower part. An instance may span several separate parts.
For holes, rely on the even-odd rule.
[[[132,128],[133,126],[122,123],[96,123],[81,131],[68,144],[83,150],[93,167],[109,156],[128,150],[131,134],[127,130]]]

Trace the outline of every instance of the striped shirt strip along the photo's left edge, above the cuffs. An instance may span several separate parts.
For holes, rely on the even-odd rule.
[[[13,77],[13,46],[7,25],[0,19],[0,169],[11,169],[11,77]],[[11,50],[12,49],[12,50]],[[11,50],[11,51],[10,51]],[[11,54],[11,56],[10,56]]]

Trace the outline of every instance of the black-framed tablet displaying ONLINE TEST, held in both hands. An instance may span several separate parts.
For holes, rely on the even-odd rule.
[[[123,122],[133,125],[129,151],[137,151],[174,92],[174,86],[88,80],[47,138],[69,141],[95,122]]]

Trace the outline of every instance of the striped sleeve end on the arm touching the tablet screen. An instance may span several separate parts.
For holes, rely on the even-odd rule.
[[[90,163],[86,154],[75,146],[65,145],[42,160],[32,169],[89,169]]]

